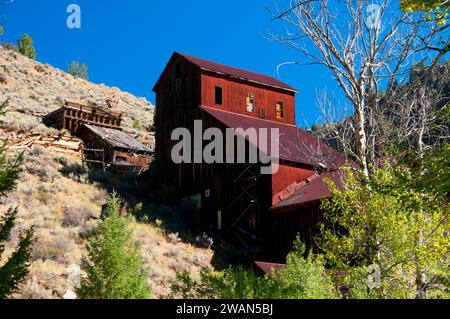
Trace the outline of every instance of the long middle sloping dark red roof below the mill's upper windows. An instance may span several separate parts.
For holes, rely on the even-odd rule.
[[[341,167],[347,158],[329,147],[323,140],[294,125],[261,120],[259,118],[236,114],[202,106],[201,109],[230,128],[261,128],[279,129],[279,158],[294,163],[306,164],[321,169],[335,170]],[[273,149],[270,133],[268,134],[269,149]]]

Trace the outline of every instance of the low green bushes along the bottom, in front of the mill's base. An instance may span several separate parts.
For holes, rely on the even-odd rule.
[[[285,270],[258,277],[242,266],[222,272],[202,270],[200,279],[177,274],[172,296],[219,299],[332,299],[339,298],[320,256],[304,258],[304,246],[287,257]]]

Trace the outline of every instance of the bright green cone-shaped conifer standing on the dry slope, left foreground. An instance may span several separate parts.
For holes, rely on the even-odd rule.
[[[120,214],[121,199],[110,196],[104,219],[89,240],[81,268],[81,299],[145,299],[150,296],[139,247],[132,240],[129,219]]]

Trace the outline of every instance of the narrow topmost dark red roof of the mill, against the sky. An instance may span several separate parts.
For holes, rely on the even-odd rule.
[[[195,64],[196,66],[198,66],[199,68],[204,69],[204,70],[208,70],[208,71],[215,72],[215,73],[226,74],[226,75],[236,77],[236,78],[239,78],[239,79],[242,79],[245,81],[256,82],[256,83],[263,84],[263,85],[268,85],[268,86],[277,87],[277,88],[292,91],[292,92],[297,92],[297,90],[294,89],[293,87],[291,87],[291,86],[287,85],[286,83],[283,83],[280,80],[277,80],[271,76],[234,68],[234,67],[231,67],[228,65],[224,65],[224,64],[220,64],[220,63],[216,63],[216,62],[212,62],[212,61],[208,61],[208,60],[203,60],[203,59],[189,56],[187,54],[183,54],[183,53],[179,53],[179,52],[176,52],[175,54],[178,54],[178,55],[184,57],[189,62]]]

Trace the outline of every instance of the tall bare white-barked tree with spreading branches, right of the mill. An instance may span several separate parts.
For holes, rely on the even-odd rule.
[[[326,67],[350,102],[352,119],[345,123],[349,127],[336,138],[369,178],[369,163],[391,128],[386,108],[408,94],[405,84],[416,61],[430,56],[435,66],[445,55],[445,46],[436,42],[442,40],[446,28],[425,27],[418,14],[400,11],[398,2],[391,0],[376,5],[369,0],[296,0],[277,9],[273,17],[282,23],[283,31],[273,33],[272,38],[303,57],[283,64]],[[330,105],[325,97],[325,125],[337,133],[328,121],[330,113],[336,113],[327,108]]]

